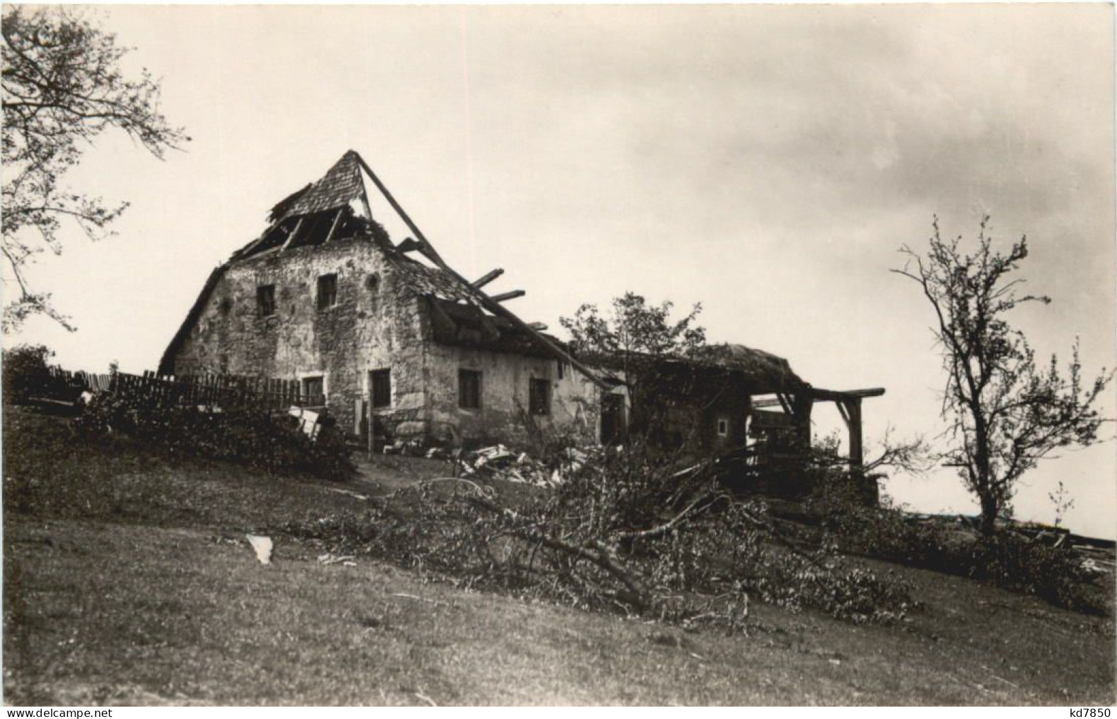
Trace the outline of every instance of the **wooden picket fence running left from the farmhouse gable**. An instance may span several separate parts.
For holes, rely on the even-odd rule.
[[[144,396],[161,405],[204,404],[225,409],[259,406],[287,410],[290,406],[322,408],[325,396],[309,394],[298,380],[270,380],[229,374],[142,375],[116,372],[90,374],[51,367],[54,399],[74,400],[82,392],[114,392]]]

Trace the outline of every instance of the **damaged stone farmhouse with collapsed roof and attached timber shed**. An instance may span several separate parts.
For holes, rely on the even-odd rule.
[[[412,237],[389,237],[383,214]],[[523,291],[486,293],[503,270],[469,281],[448,267],[356,152],[268,220],[210,275],[161,374],[297,380],[353,434],[421,445],[515,442],[529,428],[611,443],[656,402],[669,408],[658,441],[775,456],[809,447],[813,405],[834,402],[862,462],[861,401],[884,390],[817,389],[741,345],[698,360],[575,356],[504,305]],[[637,375],[655,391],[630,392]]]

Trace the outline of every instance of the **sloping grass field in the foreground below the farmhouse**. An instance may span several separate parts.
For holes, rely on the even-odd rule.
[[[1111,704],[1114,623],[896,567],[894,626],[751,607],[725,636],[468,592],[373,558],[323,565],[288,520],[441,472],[326,486],[4,415],[9,704]],[[248,531],[276,538],[260,565]],[[882,565],[878,565],[882,566]]]

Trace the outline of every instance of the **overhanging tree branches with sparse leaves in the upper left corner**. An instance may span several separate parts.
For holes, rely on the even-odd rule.
[[[8,6],[3,42],[3,245],[18,293],[3,310],[6,332],[35,314],[67,329],[67,317],[50,295],[32,289],[26,269],[45,249],[61,252],[64,221],[90,239],[111,234],[127,207],[106,203],[64,183],[66,172],[108,128],[127,133],[162,159],[189,137],[160,113],[160,85],[146,70],[126,77],[121,59],[130,51],[116,36],[88,19],[88,10]]]

